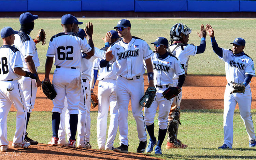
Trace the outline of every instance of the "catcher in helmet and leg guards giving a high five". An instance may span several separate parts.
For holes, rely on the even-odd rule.
[[[189,34],[191,29],[188,28],[183,23],[176,23],[170,31],[171,44],[168,47],[168,52],[173,54],[177,59],[179,59],[181,65],[185,70],[185,76],[187,75],[188,60],[191,55],[203,53],[205,51],[205,37],[206,31],[204,26],[201,25],[200,33],[197,33],[201,38],[199,46],[194,46],[193,44],[188,44]],[[174,74],[173,83],[177,86],[179,77]],[[173,98],[173,104],[170,109],[168,117],[168,137],[166,149],[170,148],[186,148],[187,145],[182,144],[180,140],[177,139],[178,129],[180,123],[180,104],[182,99],[182,91],[179,95]]]

